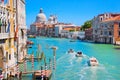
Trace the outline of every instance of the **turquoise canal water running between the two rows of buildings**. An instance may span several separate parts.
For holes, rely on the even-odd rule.
[[[51,46],[57,46],[56,69],[51,80],[120,80],[120,50],[114,49],[110,44],[95,44],[82,41],[70,42],[69,39],[60,38],[31,38],[34,42],[32,48],[28,48],[28,54],[36,55],[38,44],[41,52],[46,55],[46,61],[53,58]],[[67,54],[69,49],[82,51],[84,57],[75,57],[75,54]],[[90,67],[87,64],[89,57],[96,57],[99,66]],[[31,70],[31,63],[27,63],[27,70]],[[43,63],[34,63],[35,70],[40,69]],[[25,75],[23,80],[32,80],[31,75]]]

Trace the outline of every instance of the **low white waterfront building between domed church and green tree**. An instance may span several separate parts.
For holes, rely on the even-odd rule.
[[[78,37],[80,27],[73,24],[57,24],[55,25],[55,36],[56,37],[65,37],[65,38],[74,38]]]

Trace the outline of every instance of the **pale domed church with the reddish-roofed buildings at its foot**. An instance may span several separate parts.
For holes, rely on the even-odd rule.
[[[43,9],[40,8],[40,12],[37,14],[35,22],[30,25],[30,34],[45,35],[45,32],[53,32],[51,31],[53,30],[51,28],[57,23],[58,21],[55,15],[50,15],[50,17],[47,19],[46,15],[43,12]]]

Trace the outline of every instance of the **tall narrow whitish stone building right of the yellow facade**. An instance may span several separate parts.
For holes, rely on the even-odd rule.
[[[27,27],[26,27],[26,13],[25,13],[25,0],[16,0],[16,8],[17,8],[17,17],[16,17],[16,30],[17,31],[17,40],[16,40],[16,47],[17,47],[17,54],[18,54],[18,61],[23,60],[25,55],[27,54],[26,51],[26,32],[27,32]]]

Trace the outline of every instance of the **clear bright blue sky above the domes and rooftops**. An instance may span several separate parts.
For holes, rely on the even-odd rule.
[[[26,0],[27,27],[35,21],[40,8],[47,18],[55,14],[59,22],[82,25],[101,13],[119,13],[120,0]]]

